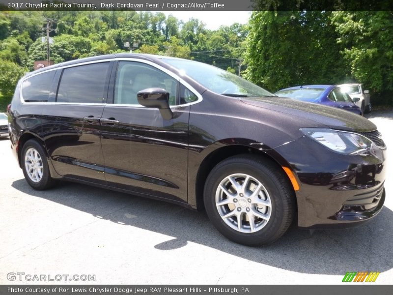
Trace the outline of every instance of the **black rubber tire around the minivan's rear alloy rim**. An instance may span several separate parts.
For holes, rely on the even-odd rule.
[[[25,165],[25,156],[26,156],[26,153],[30,150],[30,148],[33,148],[38,152],[38,155],[40,156],[41,163],[42,163],[42,177],[37,182],[33,181],[28,176],[28,171],[27,171],[27,168]],[[38,141],[36,141],[34,139],[28,140],[22,148],[21,166],[22,166],[23,174],[25,176],[26,181],[28,182],[28,184],[32,188],[34,188],[36,190],[45,190],[45,189],[51,188],[54,185],[56,185],[56,183],[58,182],[56,179],[53,179],[51,177],[49,167],[48,167],[46,152],[45,152],[44,148],[41,146],[41,144],[38,143]]]

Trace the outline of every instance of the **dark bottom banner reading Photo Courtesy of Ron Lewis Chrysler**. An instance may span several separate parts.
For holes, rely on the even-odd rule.
[[[350,283],[352,284],[352,283]],[[1,285],[0,295],[391,295],[389,285]]]

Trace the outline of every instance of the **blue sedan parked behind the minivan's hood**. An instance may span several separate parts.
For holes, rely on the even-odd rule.
[[[362,110],[355,105],[351,97],[334,85],[296,86],[281,89],[275,94],[281,97],[290,97],[297,100],[320,103],[363,116]],[[359,100],[359,98],[355,98],[355,100],[356,99]]]

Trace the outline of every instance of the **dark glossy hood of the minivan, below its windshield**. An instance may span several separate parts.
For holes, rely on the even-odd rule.
[[[375,126],[374,123],[362,116],[320,104],[278,96],[241,98],[241,101],[255,107],[270,109],[288,114],[289,116],[309,119],[332,129],[357,132],[377,130],[377,126]]]

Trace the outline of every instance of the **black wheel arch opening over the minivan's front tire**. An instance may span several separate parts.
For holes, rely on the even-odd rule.
[[[202,160],[199,166],[196,176],[195,188],[194,188],[197,210],[204,209],[203,190],[204,190],[204,184],[206,182],[206,179],[210,171],[221,161],[231,156],[241,155],[241,154],[255,154],[259,157],[273,161],[274,163],[277,164],[278,168],[281,168],[284,171],[288,181],[292,183],[292,187],[294,191],[297,190],[295,189],[295,185],[293,182],[294,180],[291,179],[288,175],[288,173],[292,173],[292,175],[294,175],[293,172],[291,172],[292,171],[292,169],[290,168],[291,166],[275,150],[273,149],[260,150],[259,148],[252,147],[251,145],[226,145],[211,151],[207,156],[204,157],[204,159]],[[290,171],[288,171],[286,168],[288,168]],[[300,183],[297,177],[295,177],[295,181],[297,181],[297,183]]]

